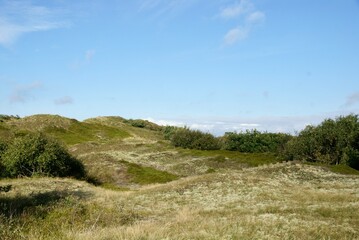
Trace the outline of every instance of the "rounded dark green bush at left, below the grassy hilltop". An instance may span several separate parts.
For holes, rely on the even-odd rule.
[[[1,154],[3,175],[73,176],[83,178],[84,166],[59,142],[41,133],[17,137]]]

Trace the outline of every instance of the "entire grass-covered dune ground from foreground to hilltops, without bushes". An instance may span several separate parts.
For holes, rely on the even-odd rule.
[[[357,171],[174,148],[156,129],[120,117],[0,122],[3,138],[60,139],[100,184],[0,180],[0,239],[359,238]]]

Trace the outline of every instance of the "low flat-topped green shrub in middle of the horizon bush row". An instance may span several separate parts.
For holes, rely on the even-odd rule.
[[[289,134],[259,132],[226,133],[222,138],[223,149],[247,153],[279,152],[292,138]]]

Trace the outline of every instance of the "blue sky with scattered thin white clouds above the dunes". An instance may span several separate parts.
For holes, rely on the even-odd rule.
[[[359,0],[0,0],[0,114],[295,133],[359,113]]]

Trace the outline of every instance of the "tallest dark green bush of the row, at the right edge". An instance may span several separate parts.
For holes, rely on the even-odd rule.
[[[327,164],[346,164],[359,169],[358,115],[326,119],[320,125],[307,126],[288,142],[285,156]]]

